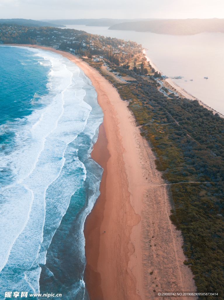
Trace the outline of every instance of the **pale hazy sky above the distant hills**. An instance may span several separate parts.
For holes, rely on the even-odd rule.
[[[224,0],[0,0],[0,18],[224,18]]]

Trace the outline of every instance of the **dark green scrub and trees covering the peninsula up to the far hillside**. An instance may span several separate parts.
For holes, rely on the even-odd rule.
[[[174,94],[172,98],[165,97],[159,92],[155,77],[144,77],[145,60],[139,66],[131,63],[142,52],[134,42],[74,29],[6,25],[0,25],[0,42],[32,42],[83,55],[117,88],[121,98],[129,102],[141,135],[156,154],[157,169],[170,186],[171,220],[182,232],[185,264],[194,274],[197,290],[218,292],[218,296],[199,298],[223,299],[224,119],[198,101]],[[92,55],[102,59],[94,61]],[[105,62],[134,81],[121,83],[106,75],[101,70]]]

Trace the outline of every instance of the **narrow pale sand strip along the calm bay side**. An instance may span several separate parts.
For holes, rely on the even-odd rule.
[[[143,54],[145,54],[145,57],[147,59],[147,61],[150,62],[151,66],[158,72],[163,74],[163,72],[161,70],[159,70],[159,68],[156,66],[156,64],[153,63],[153,61],[146,55],[145,49],[143,50]],[[212,107],[210,107],[208,104],[205,104],[203,101],[199,100],[198,98],[194,97],[193,95],[191,95],[188,91],[186,91],[184,88],[180,87],[176,82],[174,82],[171,78],[166,78],[164,79],[165,82],[168,83],[168,85],[171,86],[171,88],[176,89],[177,93],[179,93],[180,97],[182,96],[182,98],[187,98],[190,100],[197,100],[199,102],[200,105],[202,105],[203,107],[207,108],[208,110],[211,110],[213,112],[213,114],[219,114],[219,116],[221,118],[224,118],[224,115],[222,113],[219,113],[217,110],[213,109]]]

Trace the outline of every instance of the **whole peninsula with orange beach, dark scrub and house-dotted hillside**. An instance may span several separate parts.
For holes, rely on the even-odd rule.
[[[92,158],[104,173],[85,226],[91,300],[196,289],[222,298],[224,120],[161,93],[161,75],[134,42],[6,25],[0,42],[60,53],[97,91],[104,122]]]

